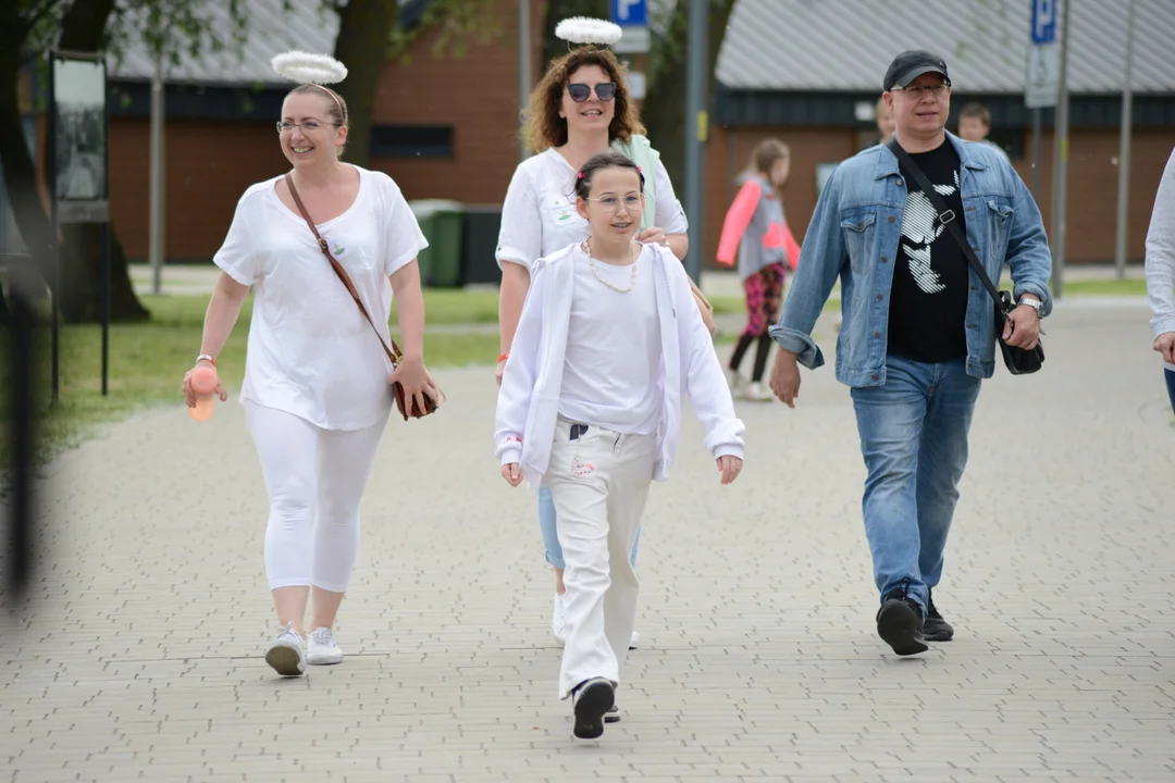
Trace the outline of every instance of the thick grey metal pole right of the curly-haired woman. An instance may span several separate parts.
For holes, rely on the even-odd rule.
[[[710,129],[706,85],[709,74],[709,0],[689,0],[690,34],[685,68],[685,215],[690,222],[690,251],[685,270],[696,283],[701,281],[701,254],[705,251],[705,144]]]

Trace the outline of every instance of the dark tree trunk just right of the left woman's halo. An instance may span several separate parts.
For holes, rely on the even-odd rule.
[[[356,166],[371,160],[371,127],[380,92],[388,39],[398,19],[396,0],[350,0],[338,12],[335,58],[347,66],[347,80],[337,85],[347,101],[350,130],[344,157]]]

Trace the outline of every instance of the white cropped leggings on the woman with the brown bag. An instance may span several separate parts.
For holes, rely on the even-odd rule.
[[[360,546],[360,500],[387,417],[364,430],[323,430],[246,401],[269,492],[269,589],[314,585],[345,593]]]

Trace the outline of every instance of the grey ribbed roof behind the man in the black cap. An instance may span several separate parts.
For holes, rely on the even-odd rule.
[[[1072,0],[1068,86],[1119,93],[1127,0]],[[1134,0],[1140,93],[1175,93],[1175,0]],[[904,49],[947,61],[954,88],[1022,93],[1029,0],[736,0],[718,55],[733,89],[881,92]]]

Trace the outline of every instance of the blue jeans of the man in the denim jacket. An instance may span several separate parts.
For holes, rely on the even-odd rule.
[[[980,383],[965,359],[888,357],[885,385],[852,390],[868,470],[865,534],[882,599],[908,579],[909,598],[925,610],[928,588],[942,576]]]

